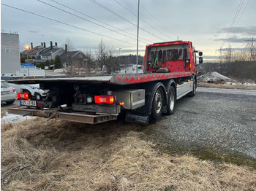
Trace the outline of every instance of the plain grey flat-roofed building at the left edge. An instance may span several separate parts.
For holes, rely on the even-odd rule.
[[[1,74],[20,70],[20,45],[18,32],[1,33]]]

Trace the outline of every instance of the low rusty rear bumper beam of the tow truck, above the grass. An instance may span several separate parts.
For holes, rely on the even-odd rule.
[[[23,116],[37,116],[50,119],[67,120],[73,122],[83,122],[89,124],[96,124],[100,122],[107,122],[110,120],[116,120],[117,115],[111,114],[85,114],[82,112],[59,112],[58,110],[37,110],[28,108],[10,108],[8,112],[11,114],[20,114]]]

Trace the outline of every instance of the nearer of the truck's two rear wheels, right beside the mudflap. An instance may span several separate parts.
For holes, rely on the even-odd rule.
[[[163,107],[164,96],[162,93],[162,87],[158,87],[154,93],[154,98],[152,101],[152,117],[154,120],[159,120],[162,116],[162,107]]]

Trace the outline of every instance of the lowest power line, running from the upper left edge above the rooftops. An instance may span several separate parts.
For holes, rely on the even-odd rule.
[[[56,19],[53,19],[53,18],[50,18],[50,17],[45,17],[45,16],[43,16],[43,15],[39,15],[39,14],[34,13],[34,12],[29,12],[29,11],[26,11],[26,10],[24,10],[24,9],[20,9],[20,8],[17,8],[17,7],[12,7],[12,6],[8,5],[8,4],[2,4],[2,3],[1,3],[1,5],[4,5],[4,6],[6,6],[6,7],[10,7],[10,8],[12,8],[12,9],[17,9],[17,10],[22,11],[22,12],[29,13],[29,14],[31,14],[31,15],[36,15],[36,16],[38,16],[38,17],[43,17],[43,18],[45,18],[45,19],[52,20],[52,21],[54,21],[54,22],[56,22],[56,23],[61,23],[61,24],[65,25],[65,26],[71,26],[72,28],[77,28],[77,29],[80,29],[80,30],[83,30],[83,31],[86,31],[86,32],[89,32],[89,33],[92,33],[92,34],[97,34],[97,35],[99,35],[99,36],[103,36],[103,37],[108,38],[108,39],[113,39],[113,40],[116,40],[116,41],[119,41],[119,42],[124,42],[124,43],[126,43],[126,44],[132,44],[132,43],[130,43],[130,42],[125,42],[125,41],[120,40],[120,39],[115,39],[115,38],[113,38],[113,37],[106,36],[106,35],[104,35],[104,34],[99,34],[99,33],[96,33],[96,32],[94,32],[94,31],[89,31],[89,30],[87,30],[87,29],[85,29],[85,28],[80,28],[80,27],[78,27],[78,26],[72,26],[72,25],[70,25],[70,24],[68,24],[68,23],[64,23],[64,22],[62,22],[62,21],[59,21],[59,20],[56,20]],[[132,44],[132,45],[136,45],[136,44]]]

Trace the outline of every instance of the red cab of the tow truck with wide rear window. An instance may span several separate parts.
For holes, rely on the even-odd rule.
[[[189,41],[161,42],[146,46],[143,71],[190,71],[197,74],[195,47]]]

